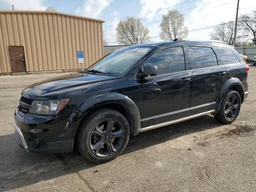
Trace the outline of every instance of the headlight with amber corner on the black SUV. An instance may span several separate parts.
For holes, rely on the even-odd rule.
[[[68,104],[70,98],[59,99],[59,100],[49,100],[49,101],[33,101],[30,106],[30,113],[43,114],[43,115],[53,115],[58,114],[60,110]]]

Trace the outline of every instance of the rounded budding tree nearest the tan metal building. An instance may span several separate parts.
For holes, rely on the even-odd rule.
[[[117,41],[120,45],[135,45],[150,42],[149,30],[142,25],[140,19],[127,17],[120,20],[116,28]]]

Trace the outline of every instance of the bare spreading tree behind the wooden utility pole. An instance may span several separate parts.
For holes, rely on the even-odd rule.
[[[220,40],[226,42],[229,45],[232,45],[234,42],[234,32],[235,32],[235,23],[229,21],[227,23],[221,22],[219,26],[215,26],[213,31],[210,32],[210,37],[212,40]],[[246,38],[242,26],[237,25],[236,29],[236,46],[242,44],[242,41]]]

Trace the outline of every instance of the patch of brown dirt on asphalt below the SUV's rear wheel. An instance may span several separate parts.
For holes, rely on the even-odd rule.
[[[235,129],[222,134],[222,136],[248,136],[249,132],[256,130],[256,126],[251,125],[236,125]]]

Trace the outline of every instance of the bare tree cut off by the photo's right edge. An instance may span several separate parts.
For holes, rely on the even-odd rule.
[[[239,17],[240,25],[249,32],[249,38],[252,40],[254,45],[256,45],[256,10],[253,11],[253,14],[244,14]]]

